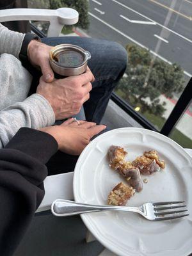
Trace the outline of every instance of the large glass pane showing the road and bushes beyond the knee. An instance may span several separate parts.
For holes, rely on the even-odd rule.
[[[192,0],[90,0],[89,36],[128,52],[115,90],[161,130],[191,77]]]

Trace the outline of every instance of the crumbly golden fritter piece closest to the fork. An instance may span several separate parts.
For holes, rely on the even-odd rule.
[[[113,190],[109,193],[108,196],[108,204],[109,205],[125,205],[127,200],[131,198],[135,193],[135,190],[132,187],[125,185],[120,182],[113,188]]]

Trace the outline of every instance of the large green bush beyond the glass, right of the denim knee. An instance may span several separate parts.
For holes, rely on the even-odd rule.
[[[132,106],[140,106],[141,113],[148,111],[163,115],[164,104],[159,104],[159,96],[173,97],[184,88],[182,68],[156,58],[147,49],[137,45],[127,45],[128,64],[126,77],[118,84],[118,92]]]

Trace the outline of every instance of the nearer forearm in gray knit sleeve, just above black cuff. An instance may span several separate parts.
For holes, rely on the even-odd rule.
[[[39,129],[54,124],[55,116],[49,102],[33,94],[0,111],[0,148],[13,138],[20,127]]]

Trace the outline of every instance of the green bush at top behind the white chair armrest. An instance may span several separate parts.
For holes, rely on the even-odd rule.
[[[88,29],[90,24],[88,16],[88,1],[87,0],[49,0],[50,8],[57,9],[61,7],[69,7],[79,12],[79,22],[75,25],[79,28]]]

